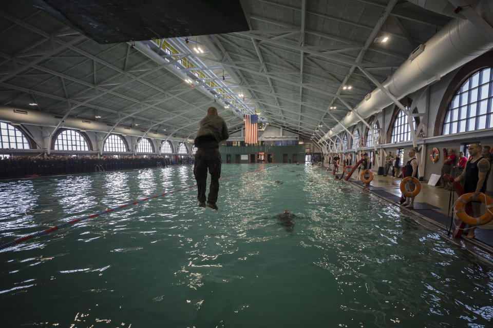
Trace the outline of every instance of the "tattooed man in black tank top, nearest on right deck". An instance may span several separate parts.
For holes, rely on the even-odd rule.
[[[471,201],[471,216],[479,217],[481,215],[481,202],[479,201],[479,193],[486,191],[486,181],[488,181],[489,169],[491,168],[489,161],[481,155],[481,145],[469,145],[469,154],[472,156],[466,162],[466,168],[456,178],[456,181],[464,180],[464,191],[473,193]],[[450,183],[449,187],[452,184]],[[466,238],[472,239],[475,237],[476,227],[469,229]]]

